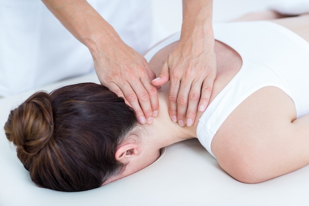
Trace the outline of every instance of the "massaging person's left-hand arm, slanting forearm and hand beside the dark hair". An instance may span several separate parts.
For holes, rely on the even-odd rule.
[[[145,58],[126,45],[86,0],[42,1],[88,47],[100,82],[127,100],[140,123],[152,123],[158,97],[151,83],[155,74]]]

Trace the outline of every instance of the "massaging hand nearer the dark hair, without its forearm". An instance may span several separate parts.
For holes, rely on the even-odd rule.
[[[152,124],[159,110],[155,78],[146,59],[120,39],[92,52],[100,82],[125,99],[140,124]]]

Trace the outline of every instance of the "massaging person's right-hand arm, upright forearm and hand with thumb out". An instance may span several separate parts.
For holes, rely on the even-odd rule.
[[[204,111],[216,78],[212,0],[183,0],[179,44],[166,58],[154,85],[170,80],[169,114],[173,122],[191,126]]]

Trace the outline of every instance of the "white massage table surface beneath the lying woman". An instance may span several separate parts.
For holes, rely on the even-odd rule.
[[[235,2],[237,9],[226,13],[233,5],[231,1]],[[229,15],[235,17],[241,12],[260,9],[267,0],[249,1],[215,0],[214,20],[226,20],[224,18],[230,18]],[[158,0],[155,4],[159,2],[164,0]],[[180,9],[180,0],[171,2],[176,2],[173,7]],[[181,11],[178,14],[181,18]],[[169,32],[174,32],[172,30]],[[223,171],[197,140],[167,147],[164,155],[153,165],[104,187],[72,193],[39,188],[17,159],[14,147],[4,135],[3,125],[9,111],[34,91],[51,91],[78,82],[98,83],[98,80],[93,73],[0,99],[0,206],[309,205],[309,166],[267,182],[243,184]]]

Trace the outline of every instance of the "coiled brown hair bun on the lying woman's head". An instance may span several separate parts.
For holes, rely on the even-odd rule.
[[[51,98],[40,91],[11,111],[4,130],[7,139],[17,149],[33,155],[49,141],[53,135],[53,125]]]

